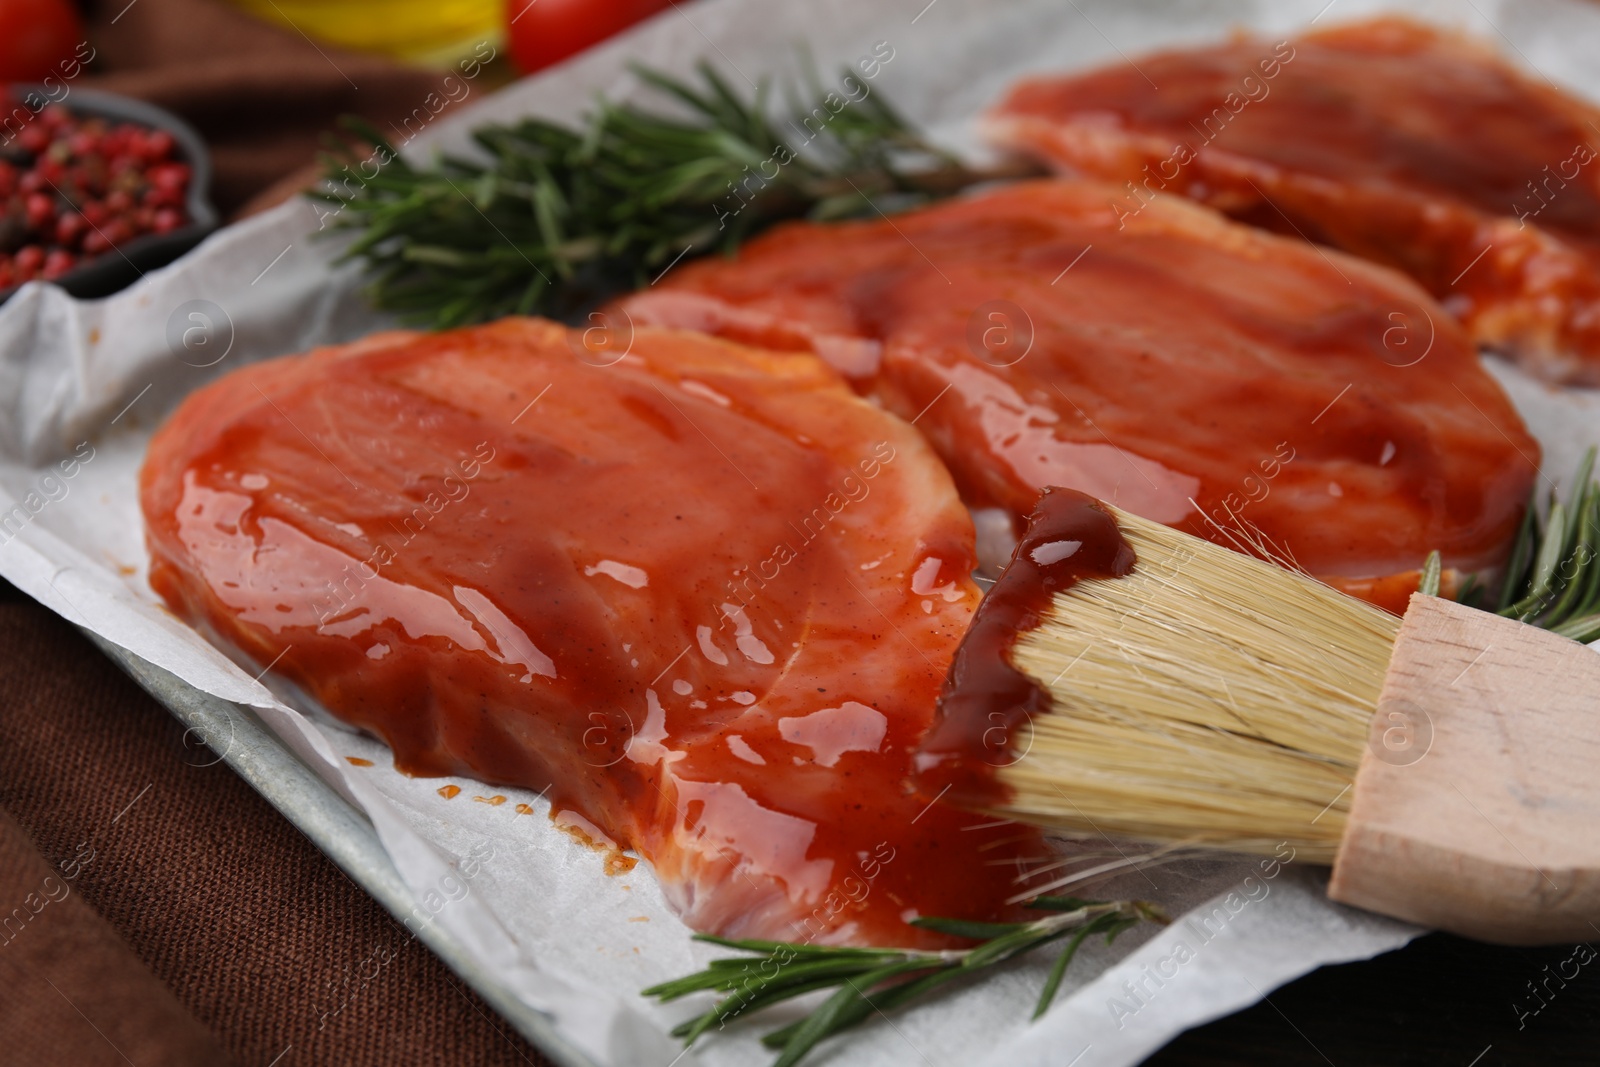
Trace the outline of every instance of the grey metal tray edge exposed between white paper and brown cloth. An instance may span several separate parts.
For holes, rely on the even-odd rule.
[[[395,870],[371,821],[278,741],[254,710],[202,693],[128,649],[90,630],[82,632],[200,739],[210,744],[210,739],[227,737],[226,745],[211,745],[213,752],[221,747],[218,755],[222,761],[309,837],[339,870],[371,893],[395,920],[403,921],[411,915],[416,897]],[[598,1067],[555,1030],[549,1016],[525,1005],[443,926],[429,923],[416,937],[560,1067]]]

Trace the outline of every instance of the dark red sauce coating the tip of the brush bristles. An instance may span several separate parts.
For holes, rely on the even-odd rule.
[[[918,789],[963,808],[1006,800],[995,771],[1014,758],[1011,737],[1050,710],[1050,691],[1011,665],[1013,645],[1038,625],[1056,593],[1083,579],[1123,577],[1136,561],[1099,501],[1077,490],[1045,490],[950,664],[938,718],[917,750]]]

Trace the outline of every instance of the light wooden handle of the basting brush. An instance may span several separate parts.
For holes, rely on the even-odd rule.
[[[1502,944],[1600,937],[1600,656],[1413,595],[1328,896]]]

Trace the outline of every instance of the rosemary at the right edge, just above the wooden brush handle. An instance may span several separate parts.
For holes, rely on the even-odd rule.
[[[1595,450],[1578,464],[1570,499],[1550,491],[1541,523],[1528,504],[1496,609],[1578,641],[1600,640],[1600,482]]]

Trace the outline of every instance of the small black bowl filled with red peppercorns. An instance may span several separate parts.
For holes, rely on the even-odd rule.
[[[205,142],[171,112],[96,90],[53,102],[45,86],[5,106],[0,301],[35,280],[109,296],[216,229]]]

